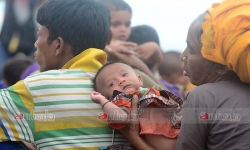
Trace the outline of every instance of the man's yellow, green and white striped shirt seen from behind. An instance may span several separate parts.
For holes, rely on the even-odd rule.
[[[101,119],[100,105],[89,96],[94,73],[105,59],[103,51],[88,49],[61,70],[29,76],[1,90],[0,140],[25,140],[40,150],[111,145],[112,130]],[[121,135],[116,140],[125,142]]]

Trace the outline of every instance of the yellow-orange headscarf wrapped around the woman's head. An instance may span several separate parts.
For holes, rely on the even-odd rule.
[[[213,4],[202,24],[202,56],[226,65],[250,83],[250,0]]]

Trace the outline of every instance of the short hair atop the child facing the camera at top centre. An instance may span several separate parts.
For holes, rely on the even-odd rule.
[[[124,0],[102,0],[110,11],[127,10],[132,14],[132,9]]]

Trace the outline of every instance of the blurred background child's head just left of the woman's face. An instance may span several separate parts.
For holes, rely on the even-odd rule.
[[[180,55],[176,51],[165,52],[158,70],[163,80],[172,84],[186,85],[188,77],[183,75],[182,62],[179,60]]]

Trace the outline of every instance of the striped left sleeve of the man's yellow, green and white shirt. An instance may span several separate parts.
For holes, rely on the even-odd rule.
[[[23,81],[0,91],[0,141],[34,142],[34,103]]]

